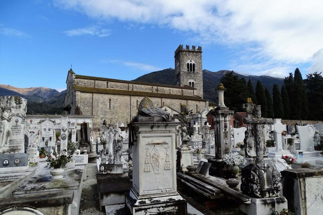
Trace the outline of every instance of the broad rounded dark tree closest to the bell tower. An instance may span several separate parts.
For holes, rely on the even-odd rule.
[[[248,97],[248,87],[245,79],[239,79],[232,72],[226,73],[220,78],[220,82],[227,89],[224,91],[224,104],[234,111],[244,111],[242,104],[245,103]]]

